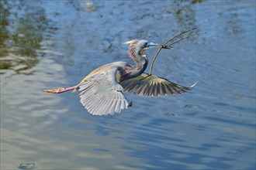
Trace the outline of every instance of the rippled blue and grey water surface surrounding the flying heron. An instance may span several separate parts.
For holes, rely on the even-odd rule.
[[[1,1],[1,169],[255,169],[255,1]],[[93,116],[79,83],[133,63],[130,39],[165,42],[153,73],[189,93]],[[148,50],[153,59],[155,50]],[[147,70],[148,71],[148,70]],[[25,167],[24,167],[25,166]]]

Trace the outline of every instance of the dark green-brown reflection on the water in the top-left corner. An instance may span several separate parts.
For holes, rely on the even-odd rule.
[[[25,73],[43,56],[42,42],[56,31],[40,5],[22,1],[1,1],[0,70]],[[27,72],[26,72],[27,73]]]

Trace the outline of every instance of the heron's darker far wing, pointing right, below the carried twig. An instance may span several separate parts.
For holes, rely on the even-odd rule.
[[[148,75],[147,73],[142,73],[136,78],[124,80],[120,82],[123,86],[125,92],[137,94],[140,96],[164,96],[171,94],[184,93],[195,87],[183,87],[177,83],[172,83],[171,81],[165,80],[158,76]]]

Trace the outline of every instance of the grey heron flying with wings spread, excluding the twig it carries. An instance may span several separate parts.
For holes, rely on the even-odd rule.
[[[64,93],[69,90],[73,90],[73,92],[79,90],[81,91],[79,94],[81,104],[90,114],[112,115],[120,113],[130,106],[124,92],[140,96],[160,97],[184,93],[195,87],[195,84],[191,87],[184,87],[160,76],[144,73],[148,63],[144,51],[157,47],[171,49],[171,46],[162,46],[144,39],[133,39],[124,42],[124,44],[130,45],[128,52],[135,66],[122,61],[109,63],[93,70],[74,87],[61,87],[43,91]]]

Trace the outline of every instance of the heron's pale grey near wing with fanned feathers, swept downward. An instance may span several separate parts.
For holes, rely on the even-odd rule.
[[[95,115],[120,113],[128,107],[128,101],[123,95],[123,87],[117,83],[117,68],[101,68],[97,72],[78,84],[77,89],[82,90],[79,94],[81,104]]]

